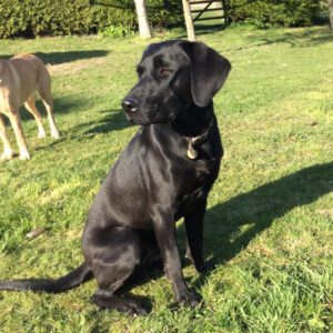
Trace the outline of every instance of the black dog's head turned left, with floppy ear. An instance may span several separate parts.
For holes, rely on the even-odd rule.
[[[137,68],[139,82],[122,108],[138,124],[169,122],[189,105],[208,107],[230,69],[225,58],[200,42],[151,44]]]

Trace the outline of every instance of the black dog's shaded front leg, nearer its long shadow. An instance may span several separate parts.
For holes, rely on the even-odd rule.
[[[205,208],[206,196],[189,204],[184,215],[188,235],[186,258],[192,261],[198,272],[203,272],[205,270],[202,258],[203,219]]]

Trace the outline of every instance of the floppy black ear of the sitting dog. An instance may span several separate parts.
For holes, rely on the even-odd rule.
[[[225,82],[231,64],[228,59],[201,42],[186,42],[183,46],[191,62],[194,103],[205,108]]]

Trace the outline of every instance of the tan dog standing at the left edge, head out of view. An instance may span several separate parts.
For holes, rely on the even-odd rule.
[[[46,137],[42,118],[36,108],[33,95],[36,90],[38,90],[48,111],[51,137],[58,139],[59,132],[53,117],[51,78],[43,62],[32,54],[20,54],[9,60],[0,59],[0,138],[3,142],[1,161],[13,158],[1,113],[6,114],[11,122],[20,149],[20,160],[30,159],[19,114],[20,107],[24,104],[34,117],[38,125],[38,138]]]

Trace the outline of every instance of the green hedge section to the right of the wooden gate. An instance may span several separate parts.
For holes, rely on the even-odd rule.
[[[319,0],[230,0],[229,16],[262,28],[300,27],[312,24],[319,11]]]

